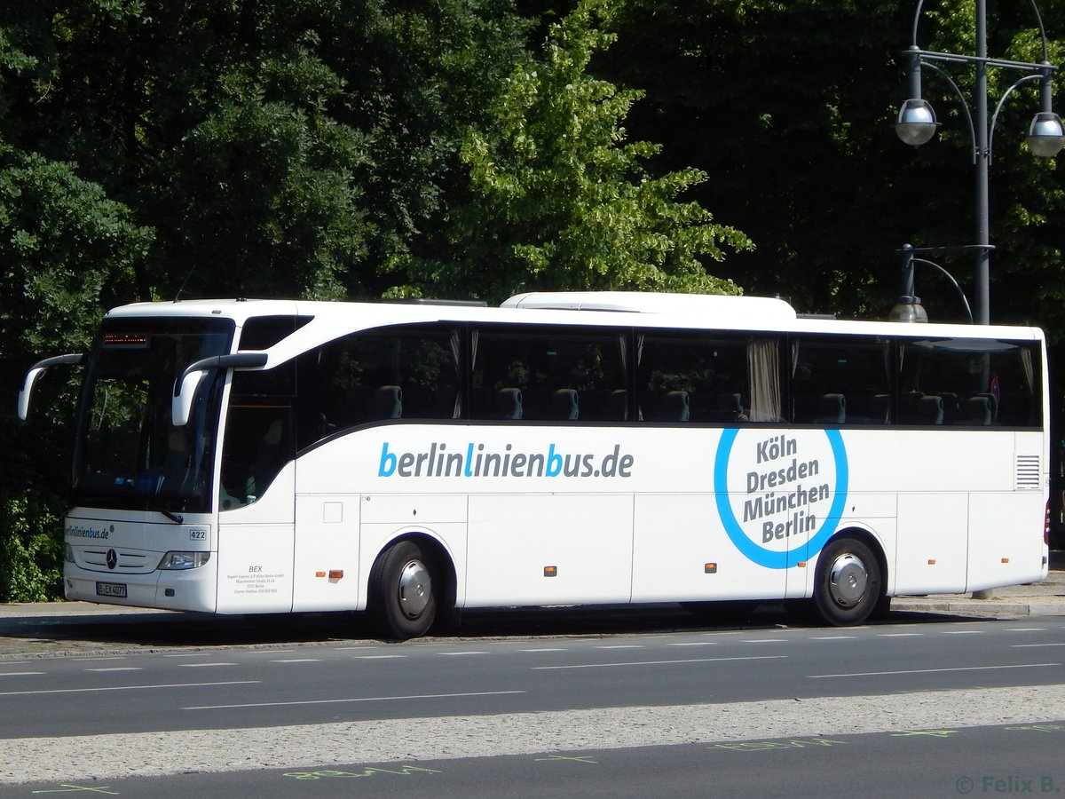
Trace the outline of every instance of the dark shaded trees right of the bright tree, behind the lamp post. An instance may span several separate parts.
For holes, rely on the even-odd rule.
[[[1041,0],[1062,63],[1061,0]],[[711,179],[695,197],[747,232],[757,249],[719,274],[749,293],[781,293],[808,311],[883,316],[898,293],[895,250],[973,239],[968,130],[949,84],[925,70],[923,95],[944,126],[917,150],[892,131],[905,99],[899,54],[910,46],[917,0],[629,0],[617,45],[593,70],[648,91],[629,126],[662,142],[659,163],[682,159]],[[918,28],[928,49],[973,52],[972,0],[925,2]],[[989,7],[992,55],[1042,61],[1029,3]],[[972,70],[949,67],[971,99]],[[1020,77],[990,70],[994,102]],[[1058,81],[1059,85],[1061,81]],[[1065,105],[1056,92],[1055,107]],[[992,319],[1036,322],[1056,336],[1061,177],[1033,159],[1023,133],[1037,88],[1015,93],[999,117],[992,164]],[[945,260],[972,291],[971,258]],[[933,319],[961,321],[951,287],[918,274]],[[1033,292],[1039,299],[1031,301]],[[1065,329],[1063,329],[1065,332]]]

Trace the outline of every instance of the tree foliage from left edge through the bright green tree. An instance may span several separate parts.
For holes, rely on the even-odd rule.
[[[109,306],[736,291],[704,268],[747,246],[687,198],[705,176],[652,175],[639,93],[586,72],[610,7],[535,60],[512,0],[0,0],[0,599],[56,587],[77,374],[28,425],[19,380]]]

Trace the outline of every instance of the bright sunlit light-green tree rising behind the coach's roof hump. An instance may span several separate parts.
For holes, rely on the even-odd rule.
[[[651,175],[644,164],[660,147],[629,142],[622,127],[642,93],[588,72],[615,38],[599,22],[616,5],[579,3],[550,27],[542,55],[508,76],[487,124],[462,141],[468,201],[447,213],[435,258],[393,259],[411,279],[395,293],[441,283],[491,300],[534,289],[739,291],[704,259],[750,242],[683,199],[707,176]]]

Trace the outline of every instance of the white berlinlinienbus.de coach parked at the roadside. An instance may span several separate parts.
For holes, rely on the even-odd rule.
[[[808,600],[1047,574],[1029,327],[802,319],[779,299],[202,300],[81,363],[68,599],[255,614]]]

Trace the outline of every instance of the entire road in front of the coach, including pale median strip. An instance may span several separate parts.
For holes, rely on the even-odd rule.
[[[1011,774],[1065,789],[1060,617],[506,636],[481,621],[402,645],[322,636],[315,618],[169,619],[95,619],[88,647],[30,634],[64,656],[0,658],[0,796],[957,796],[966,777],[1009,793],[995,780]]]

